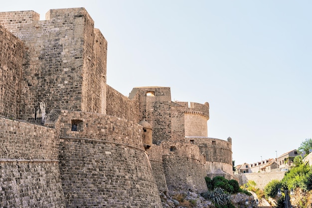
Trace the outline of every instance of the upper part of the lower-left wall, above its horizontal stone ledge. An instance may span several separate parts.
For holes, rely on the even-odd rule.
[[[58,160],[55,129],[0,118],[0,159]]]

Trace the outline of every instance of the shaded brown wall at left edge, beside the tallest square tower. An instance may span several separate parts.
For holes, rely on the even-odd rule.
[[[18,118],[23,43],[0,26],[0,115]]]

